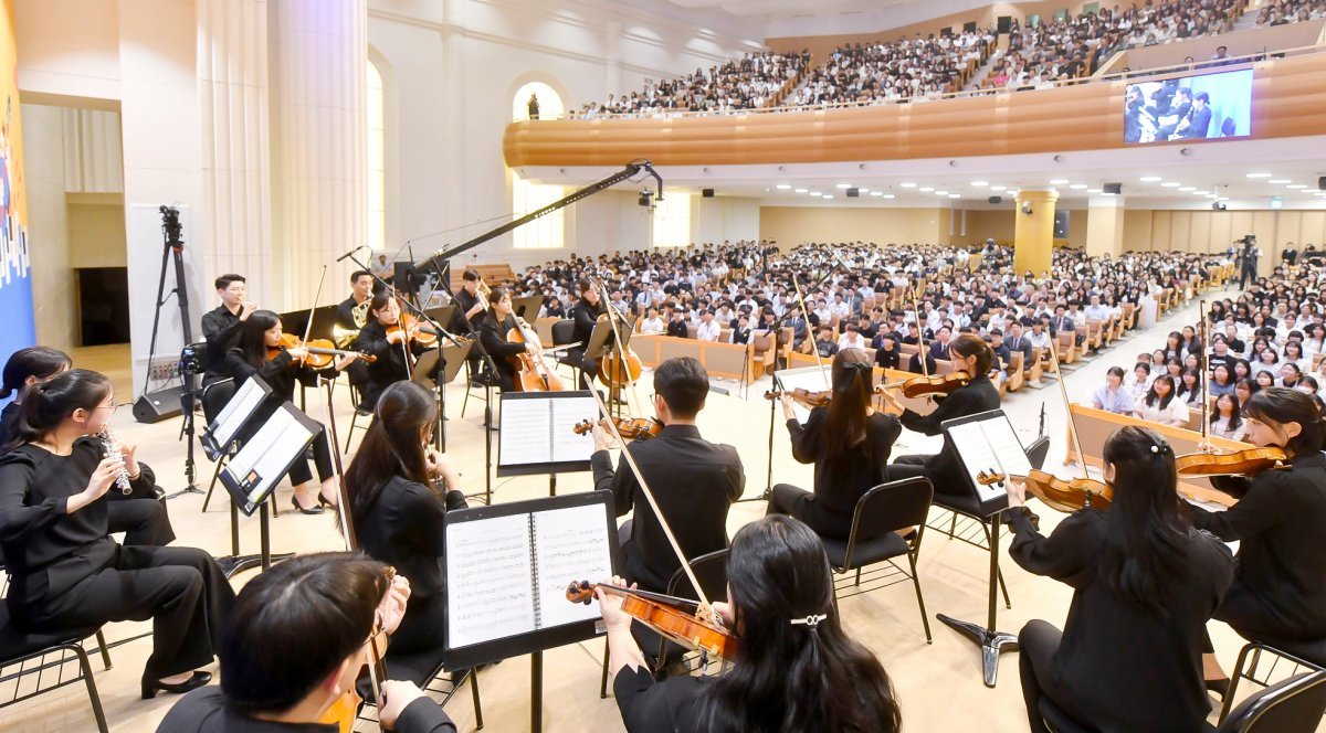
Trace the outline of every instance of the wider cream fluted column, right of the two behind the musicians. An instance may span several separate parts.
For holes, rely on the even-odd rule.
[[[273,308],[339,298],[367,240],[367,0],[272,0],[277,212]]]

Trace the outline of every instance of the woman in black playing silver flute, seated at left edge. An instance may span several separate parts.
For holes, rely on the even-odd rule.
[[[194,547],[118,545],[107,490],[127,477],[155,496],[155,476],[133,445],[102,456],[95,436],[115,410],[110,379],[70,370],[33,384],[0,456],[0,549],[11,623],[23,634],[152,619],[142,696],[188,692],[211,680],[221,623],[235,600],[216,561]],[[155,504],[155,502],[152,502]]]

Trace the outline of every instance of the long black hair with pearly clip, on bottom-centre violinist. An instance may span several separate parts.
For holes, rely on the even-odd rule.
[[[732,669],[701,697],[701,730],[894,733],[902,726],[888,673],[838,622],[829,559],[810,528],[780,514],[741,528],[732,541],[728,589],[741,644]],[[819,614],[818,624],[792,623]]]

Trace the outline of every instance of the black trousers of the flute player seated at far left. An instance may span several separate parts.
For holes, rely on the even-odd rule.
[[[37,602],[11,595],[9,610],[25,632],[152,619],[143,669],[151,683],[210,664],[233,603],[235,591],[203,550],[119,546],[109,566],[69,590]]]

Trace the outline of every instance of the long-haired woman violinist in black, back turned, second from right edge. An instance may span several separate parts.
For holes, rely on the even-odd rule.
[[[1229,549],[1188,521],[1174,451],[1155,431],[1116,431],[1103,457],[1110,510],[1075,512],[1049,537],[1033,526],[1025,485],[1006,485],[1009,554],[1074,590],[1062,632],[1032,620],[1018,634],[1028,721],[1049,730],[1038,712],[1048,697],[1091,730],[1204,730],[1203,636],[1233,578]]]

